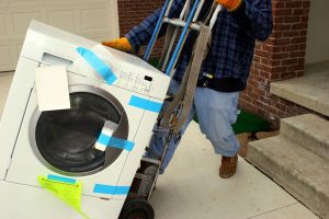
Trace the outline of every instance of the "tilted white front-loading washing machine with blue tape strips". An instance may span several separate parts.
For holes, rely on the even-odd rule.
[[[109,65],[115,82],[106,83],[78,47]],[[34,72],[53,65],[67,68],[71,108],[39,112]],[[81,217],[39,186],[41,175],[81,182],[81,210],[117,218],[169,82],[139,58],[33,21],[0,124],[0,218]],[[102,151],[94,145],[106,123],[115,128]]]

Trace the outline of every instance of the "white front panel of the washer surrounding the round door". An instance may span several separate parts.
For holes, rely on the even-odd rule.
[[[68,81],[70,87],[83,84],[87,87],[93,87],[105,92],[111,93],[115,96],[124,111],[127,114],[127,120],[129,122],[129,134],[128,141],[133,141],[135,143],[134,150],[132,152],[144,150],[145,146],[140,147],[138,141],[135,141],[137,130],[145,113],[144,110],[129,106],[129,100],[134,93],[128,91],[118,89],[116,87],[106,85],[104,83],[100,83],[98,81],[89,80],[86,77],[80,77],[73,73],[68,73]],[[144,96],[147,99],[146,96]],[[15,150],[12,157],[12,162],[7,175],[8,181],[15,182],[20,184],[39,186],[37,182],[38,175],[64,175],[68,177],[77,177],[72,175],[68,175],[63,171],[55,171],[48,169],[44,163],[39,161],[39,159],[35,155],[33,151],[33,147],[31,142],[31,122],[35,116],[35,111],[37,110],[37,99],[36,91],[33,89],[31,97],[29,100],[29,105],[25,111],[24,119],[22,123],[22,127],[16,140]],[[78,176],[77,180],[83,183],[83,194],[97,197],[105,197],[112,198],[111,194],[94,194],[93,188],[95,184],[104,184],[104,185],[117,185],[118,178],[121,176],[124,163],[127,159],[129,151],[122,151],[121,155],[106,169],[101,172],[94,173],[89,176]],[[136,163],[136,166],[138,163]],[[129,185],[126,185],[129,186]]]

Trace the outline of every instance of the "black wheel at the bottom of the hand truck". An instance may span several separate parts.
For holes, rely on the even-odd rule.
[[[124,204],[118,219],[154,219],[152,206],[144,199],[128,199]]]

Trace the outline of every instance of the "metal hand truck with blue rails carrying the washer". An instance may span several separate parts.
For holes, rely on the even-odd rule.
[[[150,43],[145,51],[144,60],[148,61],[150,58],[151,50],[155,46],[155,42],[159,36],[159,32],[163,24],[168,24],[172,28],[172,36],[170,36],[167,46],[163,48],[163,54],[160,60],[159,69],[163,71],[167,76],[172,77],[174,72],[174,67],[178,62],[178,58],[181,54],[183,45],[189,36],[191,30],[200,31],[201,25],[197,22],[202,8],[206,0],[194,0],[191,5],[191,0],[186,0],[185,4],[182,9],[182,12],[179,19],[170,19],[169,13],[172,8],[174,0],[166,0],[164,5],[162,7],[159,20],[157,22],[156,28],[151,36]],[[215,5],[215,7],[214,7]],[[222,5],[213,4],[213,9],[208,11],[208,27],[213,28],[217,15],[222,10]],[[181,35],[179,38],[178,35],[181,31]],[[177,43],[178,39],[178,43]],[[177,46],[173,50],[174,44]],[[166,101],[170,101],[171,97],[168,97]],[[174,113],[175,115],[172,118],[178,118],[180,116],[180,108],[178,108]],[[160,123],[159,118],[159,123]],[[167,150],[169,147],[169,142],[173,137],[173,128],[168,129],[169,135],[166,138],[164,149],[161,158],[157,159],[148,159],[143,158],[140,161],[140,168],[137,170],[134,182],[132,184],[128,197],[122,208],[120,219],[152,219],[155,218],[155,211],[149,204],[149,199],[152,195],[152,192],[156,187],[156,183],[158,180],[158,175],[160,172],[160,168],[162,161],[167,154]]]

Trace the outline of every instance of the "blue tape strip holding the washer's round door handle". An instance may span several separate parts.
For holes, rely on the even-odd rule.
[[[135,143],[132,141],[127,141],[124,139],[106,136],[104,134],[101,134],[101,136],[98,139],[98,143],[101,143],[106,147],[112,148],[118,148],[122,150],[132,151],[134,149]]]

